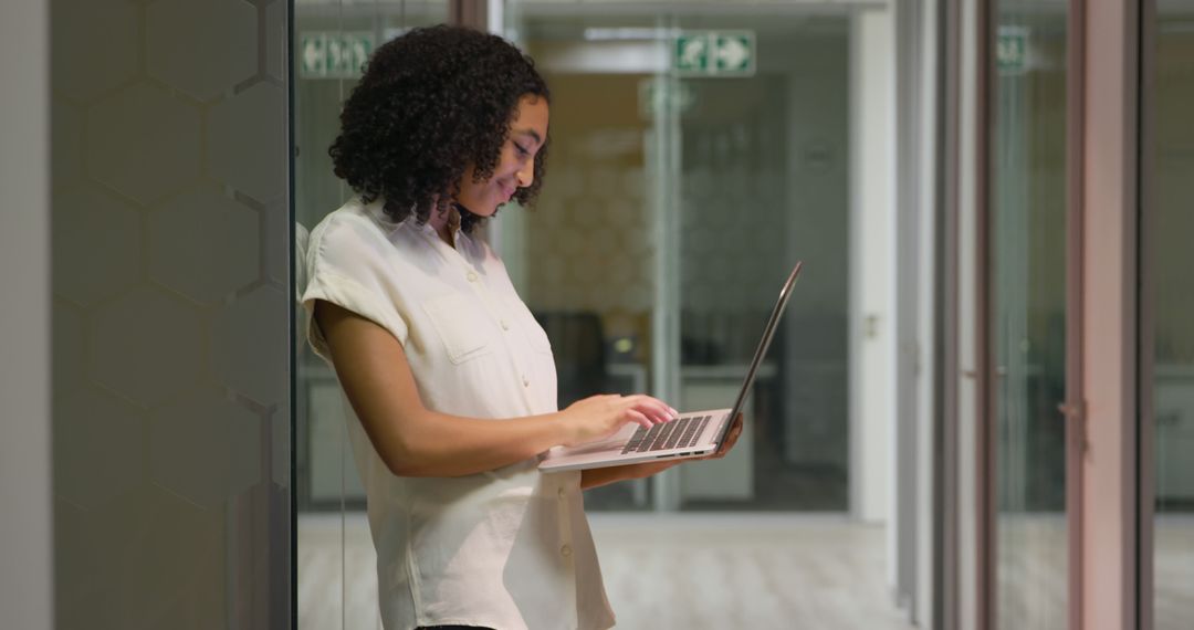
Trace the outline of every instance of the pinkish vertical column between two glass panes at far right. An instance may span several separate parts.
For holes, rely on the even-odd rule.
[[[1082,155],[1082,618],[1135,628],[1139,7],[1089,2]]]

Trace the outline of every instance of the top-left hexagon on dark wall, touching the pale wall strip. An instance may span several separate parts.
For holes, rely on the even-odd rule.
[[[86,101],[133,80],[141,58],[139,21],[127,0],[50,2],[54,41],[69,42],[50,55],[54,91]]]

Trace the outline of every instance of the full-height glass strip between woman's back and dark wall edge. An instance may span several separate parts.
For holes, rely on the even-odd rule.
[[[295,2],[295,279],[302,292],[306,237],[351,190],[332,173],[327,148],[340,104],[369,52],[404,29],[448,18],[443,0]],[[297,322],[306,315],[296,305]],[[300,329],[302,329],[300,327]],[[336,375],[294,340],[298,629],[380,628],[376,554],[364,523],[364,489],[345,433]]]

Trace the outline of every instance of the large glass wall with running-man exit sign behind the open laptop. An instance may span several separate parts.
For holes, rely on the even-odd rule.
[[[574,8],[507,11],[555,101],[537,208],[499,220],[552,336],[561,406],[602,390],[731,406],[783,278],[806,261],[730,457],[586,505],[845,511],[849,16]],[[749,70],[675,63],[688,36],[743,32]]]

